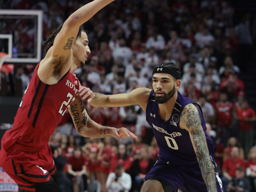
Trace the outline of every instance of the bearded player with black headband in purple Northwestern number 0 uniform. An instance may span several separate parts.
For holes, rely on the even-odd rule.
[[[223,192],[213,142],[201,107],[178,92],[180,69],[161,63],[153,70],[153,90],[137,88],[116,95],[92,94],[94,107],[140,105],[160,148],[141,192]]]

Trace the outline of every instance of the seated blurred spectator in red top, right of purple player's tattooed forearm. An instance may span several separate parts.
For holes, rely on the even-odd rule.
[[[245,169],[244,160],[239,158],[238,147],[231,149],[230,157],[223,162],[222,172],[223,177],[221,178],[224,191],[227,191],[228,183],[232,181],[232,178],[236,177],[236,169],[242,167]]]

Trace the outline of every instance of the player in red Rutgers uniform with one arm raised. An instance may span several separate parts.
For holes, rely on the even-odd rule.
[[[84,93],[79,92],[74,71],[90,54],[88,37],[80,26],[112,1],[95,0],[84,5],[46,40],[47,54],[35,68],[12,129],[1,140],[0,165],[23,191],[62,191],[56,184],[48,141],[67,109],[77,132],[84,137],[137,139],[123,127],[105,127],[92,121],[81,97],[77,97]]]

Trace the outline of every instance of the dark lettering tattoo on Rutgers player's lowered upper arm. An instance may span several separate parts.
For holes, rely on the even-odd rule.
[[[88,119],[90,119],[90,117],[87,115],[86,111],[84,110],[83,102],[80,100],[79,106],[77,104],[71,105],[70,110],[72,115],[74,116],[73,117],[74,124],[78,132],[81,132],[84,126],[88,123]],[[79,111],[80,113],[82,113],[81,115]]]

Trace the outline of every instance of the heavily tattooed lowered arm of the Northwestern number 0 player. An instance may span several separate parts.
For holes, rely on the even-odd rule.
[[[190,103],[183,109],[180,115],[180,127],[189,132],[208,192],[217,192],[214,167],[209,155],[201,119],[194,104]]]

